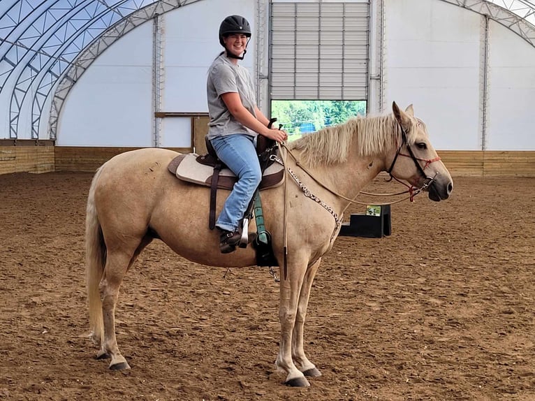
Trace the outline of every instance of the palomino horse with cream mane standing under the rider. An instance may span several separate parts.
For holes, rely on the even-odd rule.
[[[288,150],[295,159],[286,157],[286,183],[261,193],[265,226],[281,265],[281,341],[275,364],[286,373],[286,384],[309,386],[305,376],[321,374],[303,349],[310,289],[351,199],[381,171],[424,188],[433,201],[448,198],[453,182],[412,105],[403,112],[393,103],[391,115],[350,119],[304,136]],[[110,369],[130,368],[117,347],[115,305],[126,271],[154,238],[196,263],[256,265],[251,247],[219,252],[218,233],[208,229],[210,189],[173,177],[167,166],[175,156],[161,148],[119,154],[97,170],[91,183],[89,319],[101,347],[97,358],[111,357]],[[218,211],[223,198],[218,197]]]

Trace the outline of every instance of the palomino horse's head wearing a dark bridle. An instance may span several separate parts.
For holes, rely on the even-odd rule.
[[[425,124],[414,117],[412,105],[403,111],[394,102],[392,110],[400,126],[400,136],[388,173],[428,191],[432,201],[447,199],[453,190],[453,180],[432,147]]]

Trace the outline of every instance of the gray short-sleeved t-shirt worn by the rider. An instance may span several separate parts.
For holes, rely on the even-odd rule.
[[[228,92],[240,94],[244,107],[256,117],[256,96],[253,81],[247,68],[233,64],[225,54],[221,54],[208,69],[206,92],[208,113],[210,114],[208,139],[233,133],[258,135],[238,122],[221,99],[221,95]]]

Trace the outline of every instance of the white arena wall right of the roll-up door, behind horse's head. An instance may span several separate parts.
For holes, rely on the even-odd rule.
[[[490,21],[483,148],[485,17],[421,0],[388,0],[385,14],[385,100],[414,103],[437,149],[535,150],[535,48]]]

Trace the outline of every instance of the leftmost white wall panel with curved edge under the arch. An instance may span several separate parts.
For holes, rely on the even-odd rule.
[[[142,24],[91,64],[73,86],[57,145],[151,145],[152,25]]]

